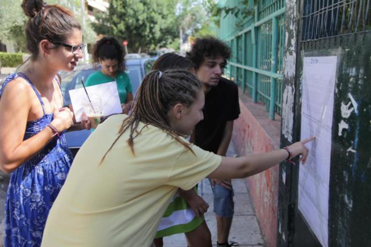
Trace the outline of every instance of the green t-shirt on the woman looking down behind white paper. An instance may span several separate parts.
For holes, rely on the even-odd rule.
[[[99,70],[89,75],[88,79],[86,79],[85,85],[94,86],[102,83],[113,82],[114,80],[116,81],[118,96],[121,104],[126,103],[127,94],[132,93],[133,89],[130,83],[129,75],[123,71],[119,71],[116,77],[112,78],[104,75],[101,70]]]

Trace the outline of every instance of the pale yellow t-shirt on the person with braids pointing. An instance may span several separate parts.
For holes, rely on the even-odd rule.
[[[125,117],[108,118],[79,150],[50,210],[42,247],[150,246],[178,187],[190,190],[221,162],[192,145],[194,155],[148,125],[134,139],[135,155],[125,131],[99,164]]]

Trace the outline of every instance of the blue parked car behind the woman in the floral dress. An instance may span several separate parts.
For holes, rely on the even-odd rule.
[[[126,72],[129,74],[130,82],[133,88],[133,95],[142,82],[142,79],[150,72],[156,57],[128,59],[126,60]],[[61,72],[62,92],[64,95],[65,106],[71,105],[69,90],[82,88],[81,80],[85,82],[88,76],[100,68],[94,68],[93,65],[79,65],[72,72]],[[66,141],[73,155],[76,155],[81,145],[85,142],[91,131],[86,129],[80,131],[71,131],[66,133]]]

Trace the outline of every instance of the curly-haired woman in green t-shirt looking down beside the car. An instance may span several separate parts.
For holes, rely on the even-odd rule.
[[[93,47],[93,62],[100,63],[102,69],[86,79],[86,86],[115,81],[121,102],[122,113],[127,114],[133,101],[129,75],[125,73],[124,50],[114,37],[103,37]]]

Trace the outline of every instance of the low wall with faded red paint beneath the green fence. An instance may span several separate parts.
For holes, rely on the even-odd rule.
[[[271,128],[273,124],[280,128],[280,119],[276,121],[268,119],[265,106],[254,104],[251,100],[250,102],[240,100],[240,109],[241,114],[239,119],[234,121],[232,136],[237,155],[259,154],[277,149],[280,129],[276,128],[276,133],[273,133],[272,138],[264,126],[268,124]],[[252,111],[258,112],[259,116],[253,115]],[[278,177],[279,169],[278,166],[275,166],[246,178],[260,228],[268,247],[276,246]]]

